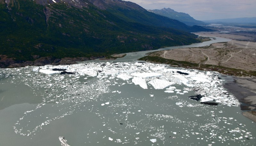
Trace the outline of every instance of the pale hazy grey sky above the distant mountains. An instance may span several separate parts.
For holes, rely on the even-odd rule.
[[[124,0],[145,9],[171,8],[197,20],[256,17],[256,0]]]

